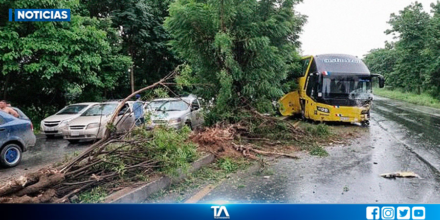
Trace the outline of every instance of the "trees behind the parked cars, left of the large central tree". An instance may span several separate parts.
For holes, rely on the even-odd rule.
[[[172,0],[0,0],[0,98],[34,122],[80,101],[127,96],[181,61],[163,28]],[[8,22],[8,8],[70,8],[71,22]],[[39,123],[38,123],[39,124]]]

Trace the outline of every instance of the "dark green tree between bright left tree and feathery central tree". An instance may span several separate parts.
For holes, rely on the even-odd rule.
[[[120,30],[122,53],[132,57],[136,88],[158,81],[180,64],[167,45],[170,36],[162,26],[172,0],[82,1],[91,17],[109,18]]]

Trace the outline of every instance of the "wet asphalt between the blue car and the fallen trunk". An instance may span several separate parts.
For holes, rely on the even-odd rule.
[[[23,153],[22,161],[18,166],[0,168],[0,182],[63,161],[65,155],[82,151],[89,145],[90,143],[69,144],[63,138],[46,139],[44,135],[37,135],[37,143]]]

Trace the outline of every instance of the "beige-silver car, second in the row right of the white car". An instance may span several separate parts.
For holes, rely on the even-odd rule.
[[[70,143],[76,143],[80,140],[101,139],[106,130],[107,122],[116,110],[119,102],[104,102],[95,104],[82,113],[79,117],[71,120],[62,130],[64,139]],[[114,121],[116,132],[125,132],[130,130],[134,124],[133,102],[127,102],[119,111]]]

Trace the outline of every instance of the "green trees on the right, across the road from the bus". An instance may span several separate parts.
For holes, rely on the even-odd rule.
[[[395,41],[371,50],[364,62],[373,73],[384,74],[393,89],[440,98],[440,1],[430,6],[427,13],[416,1],[391,14],[385,33]]]

